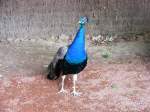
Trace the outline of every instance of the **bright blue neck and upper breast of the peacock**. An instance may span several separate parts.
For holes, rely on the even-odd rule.
[[[75,64],[81,63],[86,59],[84,25],[80,25],[80,28],[75,36],[75,39],[68,48],[65,59],[69,63]]]

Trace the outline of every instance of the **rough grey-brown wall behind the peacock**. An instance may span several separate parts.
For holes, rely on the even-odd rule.
[[[150,30],[150,0],[0,0],[0,38],[72,35],[81,15],[92,35]]]

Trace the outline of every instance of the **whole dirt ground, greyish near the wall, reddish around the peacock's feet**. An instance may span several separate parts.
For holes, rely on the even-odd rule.
[[[88,66],[77,85],[82,95],[74,97],[71,76],[65,81],[67,94],[57,93],[59,80],[46,79],[54,44],[1,43],[0,112],[149,112],[150,58],[142,54],[149,49],[137,50],[135,45],[90,47]],[[108,49],[111,55],[101,57]]]

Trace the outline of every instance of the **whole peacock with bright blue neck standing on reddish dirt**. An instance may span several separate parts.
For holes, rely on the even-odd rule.
[[[64,89],[64,80],[68,74],[73,78],[73,96],[79,96],[81,93],[76,91],[76,82],[78,74],[86,67],[88,55],[85,48],[85,25],[88,23],[87,17],[79,19],[79,29],[72,43],[69,46],[63,46],[58,49],[53,60],[48,66],[47,78],[61,80],[61,89],[58,93],[67,93]]]

